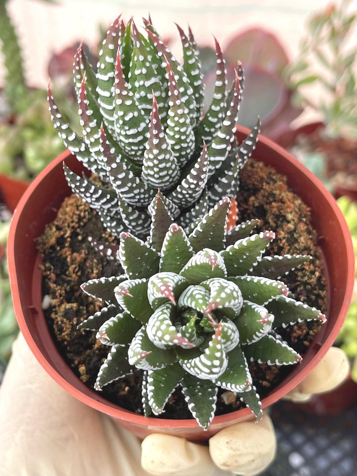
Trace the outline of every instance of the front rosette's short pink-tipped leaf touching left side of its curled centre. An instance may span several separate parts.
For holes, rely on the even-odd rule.
[[[152,314],[147,289],[147,279],[128,279],[114,290],[119,306],[142,324],[146,324]]]

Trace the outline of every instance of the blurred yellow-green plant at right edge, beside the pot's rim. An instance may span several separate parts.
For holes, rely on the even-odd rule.
[[[355,257],[357,257],[357,202],[343,196],[337,199],[337,203],[350,229]],[[351,359],[352,378],[357,382],[357,271],[352,303],[336,343],[340,345],[341,349],[343,349]]]

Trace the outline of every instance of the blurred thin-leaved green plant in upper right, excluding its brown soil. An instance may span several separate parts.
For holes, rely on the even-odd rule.
[[[328,4],[309,18],[297,60],[283,72],[297,105],[321,113],[330,137],[357,136],[357,47],[348,47],[357,15],[350,3]],[[305,86],[315,84],[319,89],[311,98]]]

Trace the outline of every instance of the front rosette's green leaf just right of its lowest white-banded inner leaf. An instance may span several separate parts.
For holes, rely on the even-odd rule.
[[[252,378],[240,347],[238,346],[233,352],[228,353],[227,358],[227,368],[216,381],[216,384],[235,393],[250,390]]]

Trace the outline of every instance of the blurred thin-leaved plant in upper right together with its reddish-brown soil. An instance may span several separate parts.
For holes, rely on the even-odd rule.
[[[350,4],[329,4],[309,18],[297,59],[285,68],[283,78],[295,91],[297,107],[317,114],[319,122],[314,124],[320,125],[299,134],[292,153],[336,197],[356,200],[357,47],[349,48],[348,42],[357,16]]]

